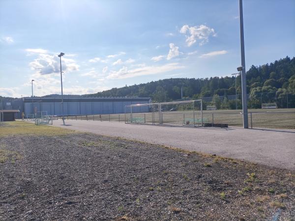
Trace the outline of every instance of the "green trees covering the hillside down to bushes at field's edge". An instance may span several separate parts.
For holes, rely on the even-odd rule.
[[[270,64],[252,65],[246,72],[249,108],[261,108],[261,103],[277,103],[279,108],[295,108],[295,57],[281,58]],[[236,84],[235,84],[236,83]],[[220,109],[235,109],[236,100],[229,95],[241,94],[241,77],[170,78],[149,83],[112,88],[84,97],[150,97],[153,102],[212,97],[205,105]],[[224,96],[220,98],[220,96]],[[238,107],[241,96],[237,96]],[[288,100],[288,103],[286,103]]]

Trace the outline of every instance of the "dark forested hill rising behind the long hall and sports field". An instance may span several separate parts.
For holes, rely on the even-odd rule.
[[[295,57],[285,57],[259,67],[252,65],[246,72],[248,93],[278,91],[295,94]],[[237,76],[237,93],[241,93],[241,79]],[[151,97],[154,102],[179,100],[181,98],[202,98],[210,96],[235,95],[235,77],[171,78],[139,85],[112,88],[84,96],[98,97]]]

